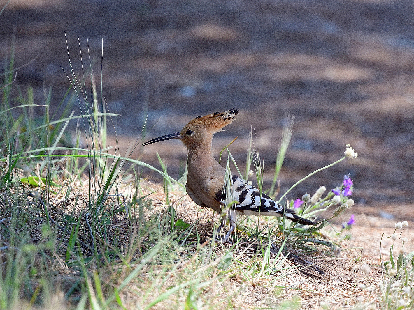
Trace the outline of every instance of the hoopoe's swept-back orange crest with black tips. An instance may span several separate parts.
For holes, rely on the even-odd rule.
[[[205,116],[198,116],[195,119],[191,120],[187,125],[189,127],[193,126],[204,126],[205,129],[214,133],[220,131],[223,127],[231,124],[231,122],[236,119],[236,115],[238,114],[238,109],[233,108],[226,112],[215,112],[212,114],[208,114]]]

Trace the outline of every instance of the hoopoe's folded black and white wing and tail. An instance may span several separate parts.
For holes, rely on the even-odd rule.
[[[233,175],[233,198],[238,201],[236,210],[246,215],[269,215],[283,217],[304,225],[315,225],[316,223],[303,219],[295,214],[294,210],[279,205],[272,198],[254,186],[248,185],[240,177]],[[221,198],[221,203],[226,203],[225,197]]]

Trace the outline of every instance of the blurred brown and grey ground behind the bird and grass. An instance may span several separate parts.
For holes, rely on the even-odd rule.
[[[412,202],[412,1],[12,0],[0,15],[1,61],[14,26],[15,67],[40,54],[17,76],[24,93],[34,86],[36,103],[44,102],[44,84],[53,86],[55,106],[70,85],[65,33],[75,72],[82,72],[78,38],[84,66],[89,40],[98,80],[103,42],[103,93],[109,110],[121,114],[115,126],[124,151],[142,129],[147,91],[146,140],[179,131],[198,115],[238,107],[214,148],[218,155],[238,136],[230,150],[243,164],[252,124],[269,186],[291,112],[296,122],[282,191],[341,158],[347,143],[359,157],[316,174],[288,198],[335,187],[350,173],[360,207],[395,213],[390,206]],[[81,105],[73,109],[79,113]],[[180,141],[147,147],[143,159],[159,166],[155,151],[178,177],[186,157]]]

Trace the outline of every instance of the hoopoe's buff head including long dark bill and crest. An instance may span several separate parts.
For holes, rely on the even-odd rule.
[[[206,116],[200,115],[185,125],[180,132],[152,139],[143,145],[169,139],[181,139],[188,148],[199,147],[206,143],[210,144],[213,134],[221,131],[224,126],[233,122],[238,112],[237,108],[233,108],[222,113],[216,112]]]

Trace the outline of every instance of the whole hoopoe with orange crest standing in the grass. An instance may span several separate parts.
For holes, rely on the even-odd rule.
[[[181,139],[188,148],[188,174],[185,188],[188,196],[202,207],[209,207],[221,214],[226,204],[235,200],[236,205],[229,207],[227,215],[230,220],[230,229],[224,240],[226,241],[236,227],[236,214],[279,216],[303,225],[316,223],[299,217],[294,210],[279,205],[272,198],[260,192],[236,174],[232,177],[231,199],[226,199],[226,169],[213,156],[213,134],[221,131],[224,126],[231,124],[239,110],[233,108],[223,113],[215,112],[206,116],[198,116],[191,120],[180,132],[161,136],[143,145],[169,139]],[[224,222],[225,223],[225,219]],[[223,224],[220,225],[221,229]]]

